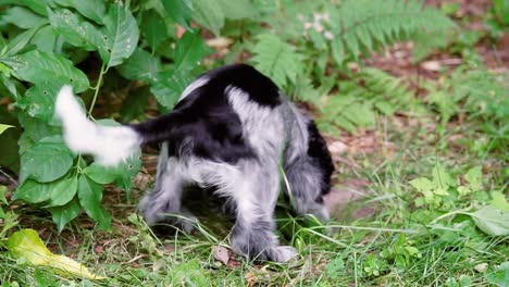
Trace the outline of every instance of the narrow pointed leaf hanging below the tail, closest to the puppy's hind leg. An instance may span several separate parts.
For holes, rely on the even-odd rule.
[[[103,187],[87,176],[78,179],[78,198],[85,212],[99,223],[102,229],[111,228],[111,214],[101,207]]]

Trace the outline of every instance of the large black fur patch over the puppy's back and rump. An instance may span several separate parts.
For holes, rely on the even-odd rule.
[[[194,155],[218,162],[234,163],[254,157],[225,91],[228,86],[238,87],[250,100],[276,107],[281,103],[277,86],[245,64],[223,66],[202,76],[209,79],[207,84],[193,90],[170,114],[133,128],[146,142],[167,140],[170,155],[181,157],[187,148]]]

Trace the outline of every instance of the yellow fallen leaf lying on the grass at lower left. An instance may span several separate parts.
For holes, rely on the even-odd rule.
[[[7,248],[13,258],[24,258],[30,265],[53,267],[59,273],[78,278],[104,279],[67,257],[51,253],[34,229],[13,233],[7,241]]]

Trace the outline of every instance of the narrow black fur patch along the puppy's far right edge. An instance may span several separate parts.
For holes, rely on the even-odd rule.
[[[320,135],[314,121],[308,123],[309,144],[308,155],[315,160],[322,171],[322,196],[331,190],[331,175],[334,172],[334,163],[327,144]],[[316,198],[316,202],[322,203],[322,197]]]

